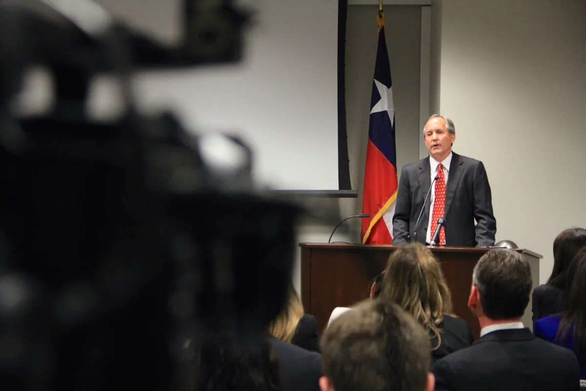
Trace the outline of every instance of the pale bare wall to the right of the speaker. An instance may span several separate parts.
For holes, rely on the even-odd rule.
[[[442,0],[434,11],[432,96],[454,119],[454,150],[486,166],[496,239],[543,254],[543,283],[554,237],[586,226],[586,2]]]

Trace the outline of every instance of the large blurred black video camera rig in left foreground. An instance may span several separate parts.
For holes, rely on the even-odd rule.
[[[185,2],[174,48],[90,0],[0,2],[2,390],[177,389],[185,341],[254,340],[281,310],[301,211],[255,189],[240,140],[220,137],[246,158],[217,169],[206,137],[134,108],[138,69],[240,59],[247,13]],[[19,115],[34,66],[53,106]],[[84,112],[103,73],[125,99],[115,120]]]

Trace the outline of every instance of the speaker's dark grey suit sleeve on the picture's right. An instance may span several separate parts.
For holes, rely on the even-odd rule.
[[[496,219],[492,212],[490,184],[482,162],[478,163],[474,171],[473,195],[477,246],[493,246],[495,244]]]

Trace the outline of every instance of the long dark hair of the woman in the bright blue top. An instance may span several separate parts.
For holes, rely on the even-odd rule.
[[[561,314],[556,341],[563,344],[572,335],[574,351],[581,362],[586,360],[586,247],[576,254],[569,268],[572,276],[568,281],[566,310]]]

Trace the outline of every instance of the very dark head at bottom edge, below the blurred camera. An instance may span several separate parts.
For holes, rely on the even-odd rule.
[[[267,338],[246,341],[220,332],[190,345],[189,391],[280,390],[277,358]]]

